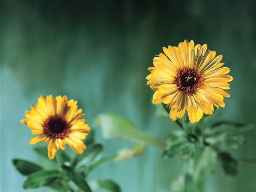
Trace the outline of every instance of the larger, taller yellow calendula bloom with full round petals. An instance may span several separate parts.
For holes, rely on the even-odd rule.
[[[212,114],[214,106],[225,107],[223,97],[230,97],[223,89],[230,89],[233,80],[230,69],[221,67],[222,55],[207,50],[207,44],[195,46],[194,41],[180,42],[178,47],[163,47],[163,53],[154,57],[154,67],[146,77],[155,91],[153,104],[165,103],[170,118],[176,121],[185,112],[191,123],[198,122],[203,113]]]

